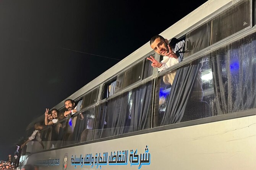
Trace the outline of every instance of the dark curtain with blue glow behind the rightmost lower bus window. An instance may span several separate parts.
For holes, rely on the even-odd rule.
[[[255,46],[254,33],[210,54],[218,114],[256,108]]]

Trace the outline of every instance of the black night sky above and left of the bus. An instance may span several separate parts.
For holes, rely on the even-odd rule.
[[[0,160],[13,155],[28,124],[45,108],[206,0],[171,2],[0,0]]]

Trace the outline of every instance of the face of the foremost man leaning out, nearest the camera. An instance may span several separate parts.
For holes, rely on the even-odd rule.
[[[167,40],[161,40],[160,38],[157,38],[150,46],[152,49],[154,49],[154,51],[157,52],[157,54],[165,56],[165,52],[169,52],[168,44],[166,41]]]

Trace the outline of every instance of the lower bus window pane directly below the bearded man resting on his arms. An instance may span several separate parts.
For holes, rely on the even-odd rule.
[[[64,146],[92,140],[96,108],[91,108],[68,119]]]

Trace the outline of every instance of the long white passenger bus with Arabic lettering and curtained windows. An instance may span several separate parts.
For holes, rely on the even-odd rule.
[[[159,72],[146,58],[162,56],[146,42],[67,97],[83,99],[81,111],[41,130],[44,148],[28,143],[19,167],[255,169],[255,2],[207,1],[159,33],[185,41],[183,61]],[[191,97],[197,78],[200,101]],[[54,108],[63,112],[65,100]]]

